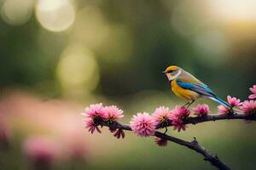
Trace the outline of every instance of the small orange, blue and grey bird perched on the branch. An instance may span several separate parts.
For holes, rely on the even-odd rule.
[[[188,105],[187,107],[189,107],[189,105],[192,105],[196,99],[206,97],[218,102],[220,105],[230,108],[230,105],[222,99],[218,99],[218,97],[212,92],[211,88],[209,88],[204,82],[201,82],[177,65],[168,66],[166,71],[163,71],[163,73],[166,74],[173,93],[179,98],[188,101],[188,103],[183,106]]]

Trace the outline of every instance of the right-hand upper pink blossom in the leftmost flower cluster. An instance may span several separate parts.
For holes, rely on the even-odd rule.
[[[123,111],[120,110],[115,105],[104,107],[103,112],[104,112],[104,120],[110,121],[110,122],[116,122],[118,119],[124,116]]]

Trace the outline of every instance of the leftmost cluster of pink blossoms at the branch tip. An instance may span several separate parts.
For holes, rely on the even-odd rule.
[[[84,127],[90,133],[95,131],[102,133],[99,128],[100,122],[106,122],[108,125],[111,125],[113,122],[117,122],[120,118],[124,117],[123,111],[117,106],[103,106],[102,103],[90,105],[82,115],[85,116]],[[111,129],[110,131],[114,133],[113,136],[117,139],[120,137],[125,138],[125,133],[122,129]]]

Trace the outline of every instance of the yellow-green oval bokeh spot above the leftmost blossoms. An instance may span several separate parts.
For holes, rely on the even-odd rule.
[[[82,45],[71,45],[61,55],[56,70],[64,94],[83,94],[95,89],[99,70],[94,54]]]

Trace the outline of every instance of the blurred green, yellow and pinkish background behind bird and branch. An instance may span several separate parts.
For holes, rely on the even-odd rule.
[[[255,84],[255,8],[254,0],[0,0],[0,123],[9,141],[0,169],[31,168],[22,145],[32,136],[60,145],[54,169],[214,169],[177,144],[160,148],[131,133],[117,140],[107,130],[91,136],[79,113],[90,103],[119,105],[128,123],[138,111],[183,104],[161,73],[168,65],[222,99],[247,99]],[[215,103],[199,102],[217,112]],[[222,121],[169,133],[196,136],[238,170],[255,168],[255,129]]]

